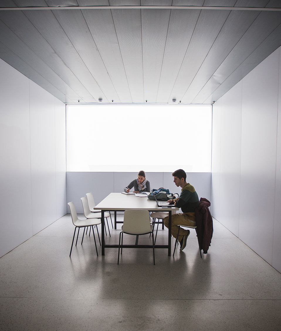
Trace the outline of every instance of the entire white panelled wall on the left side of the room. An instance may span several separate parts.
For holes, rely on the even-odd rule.
[[[0,257],[66,210],[65,105],[0,60]]]

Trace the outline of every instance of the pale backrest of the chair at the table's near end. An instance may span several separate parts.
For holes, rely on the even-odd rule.
[[[123,232],[142,234],[151,231],[147,210],[125,210]]]

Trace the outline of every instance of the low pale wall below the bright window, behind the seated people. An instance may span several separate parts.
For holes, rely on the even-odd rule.
[[[136,172],[67,172],[67,201],[73,201],[77,213],[83,213],[80,198],[92,192],[96,205],[111,192],[123,192],[133,179]],[[171,172],[146,172],[151,188],[164,187],[171,193],[179,193],[180,187],[173,182]],[[186,181],[194,186],[201,197],[211,200],[211,173],[188,172]],[[69,213],[69,210],[68,210]]]

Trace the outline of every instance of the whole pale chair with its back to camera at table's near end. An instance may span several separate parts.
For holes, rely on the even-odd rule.
[[[143,234],[152,234],[152,248],[153,248],[153,264],[155,265],[155,255],[154,255],[154,235],[153,235],[153,226],[150,225],[149,212],[147,210],[125,210],[124,211],[124,222],[122,225],[122,231],[119,234],[119,247],[118,247],[118,262],[119,264],[119,253],[121,247],[121,254],[123,248],[123,233],[131,235],[143,235]],[[120,245],[122,234],[122,243]],[[135,248],[138,248],[136,245]]]

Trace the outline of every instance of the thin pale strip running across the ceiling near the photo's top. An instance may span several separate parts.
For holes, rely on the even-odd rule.
[[[57,9],[207,9],[207,10],[258,10],[281,11],[281,8],[255,7],[201,7],[201,6],[76,6],[76,7],[12,7],[0,10],[57,10]]]

